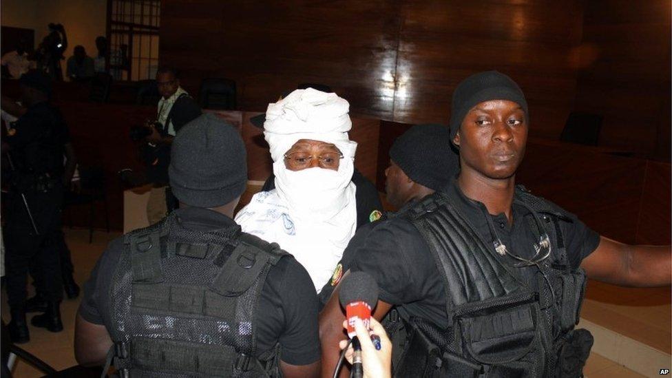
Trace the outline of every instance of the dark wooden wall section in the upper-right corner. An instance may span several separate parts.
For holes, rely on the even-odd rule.
[[[670,160],[671,3],[587,1],[576,109],[605,116],[600,145]]]

